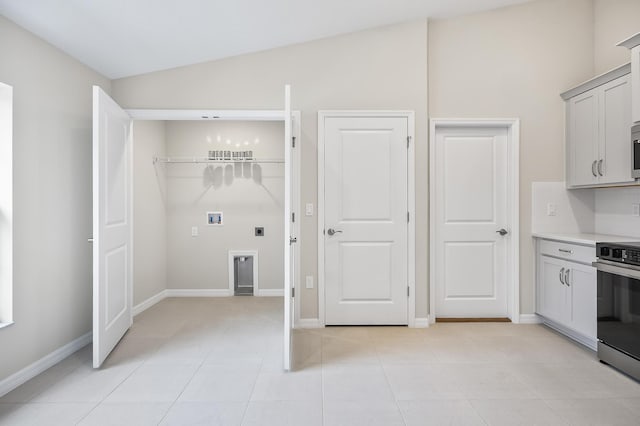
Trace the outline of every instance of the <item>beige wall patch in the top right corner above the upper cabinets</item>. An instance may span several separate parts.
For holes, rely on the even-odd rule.
[[[594,0],[595,74],[629,62],[629,50],[616,47],[620,41],[640,32],[639,0]]]

